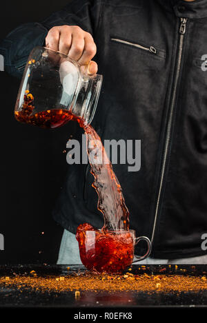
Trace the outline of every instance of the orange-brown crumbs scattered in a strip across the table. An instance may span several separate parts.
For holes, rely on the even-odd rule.
[[[31,275],[32,274],[32,275]],[[146,273],[108,275],[106,273],[75,273],[65,276],[39,276],[35,271],[30,274],[17,275],[0,278],[0,289],[4,287],[14,288],[20,292],[32,290],[38,292],[57,293],[65,291],[75,291],[79,295],[80,291],[145,291],[147,293],[160,292],[186,292],[207,290],[206,275],[148,275]],[[78,296],[77,296],[78,297]]]

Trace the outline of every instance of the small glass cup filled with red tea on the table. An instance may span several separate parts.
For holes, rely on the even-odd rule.
[[[143,260],[150,255],[151,242],[145,236],[136,238],[135,230],[81,230],[76,238],[84,266],[99,273],[119,273],[130,264]],[[146,240],[148,249],[144,256],[135,256],[135,244]],[[134,259],[134,256],[135,259]]]

